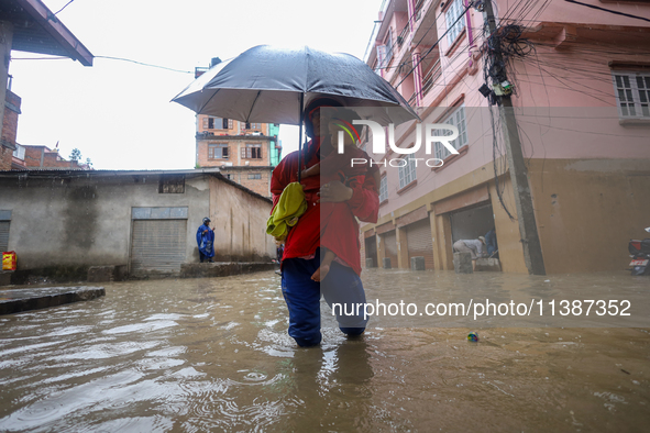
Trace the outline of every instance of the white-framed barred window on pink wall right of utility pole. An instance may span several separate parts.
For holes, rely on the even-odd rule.
[[[625,119],[650,119],[650,74],[613,74],[618,112]]]

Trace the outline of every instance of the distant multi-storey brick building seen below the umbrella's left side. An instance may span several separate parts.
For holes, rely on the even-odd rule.
[[[220,60],[212,59],[212,66]],[[196,68],[199,77],[207,68]],[[227,178],[271,197],[271,174],[282,159],[279,125],[197,115],[196,166],[220,167]]]

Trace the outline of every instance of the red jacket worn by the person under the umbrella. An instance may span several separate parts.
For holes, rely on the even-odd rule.
[[[307,157],[309,160],[305,164],[302,160],[302,168],[309,168],[318,164],[320,142],[318,138],[310,141],[307,144]],[[305,155],[305,151],[304,151]],[[370,157],[367,158],[370,160]],[[352,198],[344,203],[348,206],[350,212],[328,212],[326,211],[323,218],[329,219],[324,225],[340,230],[339,238],[348,240],[341,243],[335,248],[337,257],[345,262],[354,271],[361,274],[361,256],[359,245],[359,223],[354,216],[360,221],[375,223],[377,222],[377,213],[379,210],[379,196],[377,193],[378,186],[375,185],[373,176],[361,177],[363,182],[352,182],[349,185],[352,190]],[[316,195],[320,189],[321,176],[311,176],[301,179],[305,189],[305,198],[308,202],[307,211],[300,216],[298,223],[289,230],[287,240],[285,241],[284,258],[305,257],[316,253],[316,249],[321,245],[321,206],[316,201],[319,197]],[[279,196],[287,185],[298,181],[298,152],[287,155],[273,170],[271,179],[271,192],[273,195],[273,206],[275,207],[279,200]],[[331,207],[332,203],[323,203],[326,207]],[[354,241],[353,241],[354,240]],[[328,245],[329,247],[329,245]],[[333,248],[332,248],[333,249]]]

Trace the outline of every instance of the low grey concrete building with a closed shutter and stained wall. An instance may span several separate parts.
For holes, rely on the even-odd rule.
[[[198,263],[196,231],[209,216],[217,260],[269,262],[271,206],[218,168],[0,171],[0,249],[16,252],[19,271],[175,274]]]

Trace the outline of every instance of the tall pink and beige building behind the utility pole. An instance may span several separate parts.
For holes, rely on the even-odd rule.
[[[531,215],[515,203],[504,118],[478,90],[493,90],[485,2],[470,3],[390,0],[379,12],[367,64],[417,107],[422,123],[452,124],[460,135],[456,153],[436,143],[430,154],[422,145],[410,156],[376,157],[379,221],[362,226],[361,243],[374,266],[388,257],[408,268],[410,257],[425,256],[429,269],[453,269],[453,242],[495,227],[502,269],[530,271],[518,221]],[[508,64],[510,119],[546,271],[626,269],[627,242],[643,235],[650,215],[650,5],[492,4],[495,34],[520,31],[517,43],[527,47]],[[397,126],[396,145],[412,147],[417,126]],[[431,158],[442,164],[428,166]]]

